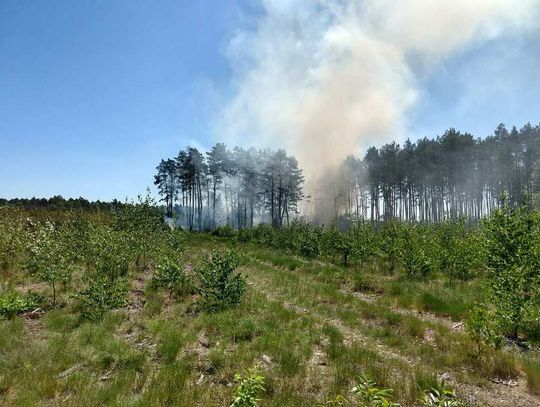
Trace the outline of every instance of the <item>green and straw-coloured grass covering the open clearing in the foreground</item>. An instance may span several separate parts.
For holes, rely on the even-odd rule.
[[[191,235],[185,262],[197,264],[229,240]],[[62,306],[37,320],[0,321],[0,404],[226,406],[237,372],[257,366],[264,406],[314,406],[348,395],[366,375],[405,406],[448,374],[458,390],[489,392],[490,379],[526,374],[540,389],[538,353],[487,351],[453,324],[467,315],[477,282],[405,279],[378,266],[345,268],[242,244],[244,300],[219,313],[195,298],[169,302],[146,284],[144,306],[84,322]],[[131,270],[131,277],[138,273]],[[25,283],[22,272],[10,285]],[[536,355],[536,356],[535,356]]]

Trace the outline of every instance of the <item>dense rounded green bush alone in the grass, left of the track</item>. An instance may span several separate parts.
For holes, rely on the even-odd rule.
[[[242,300],[246,281],[241,274],[235,273],[239,264],[235,253],[228,251],[223,254],[214,249],[212,255],[195,269],[197,292],[203,309],[220,311]]]

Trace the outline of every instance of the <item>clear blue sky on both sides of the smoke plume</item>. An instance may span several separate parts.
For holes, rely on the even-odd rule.
[[[259,14],[256,1],[0,2],[0,197],[133,198],[161,158],[218,140],[227,47]],[[540,122],[537,34],[420,77],[408,132]]]

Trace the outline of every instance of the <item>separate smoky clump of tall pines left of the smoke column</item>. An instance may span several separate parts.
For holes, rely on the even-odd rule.
[[[184,227],[242,229],[259,222],[289,224],[298,214],[304,177],[284,150],[257,150],[218,143],[206,154],[194,147],[161,160],[155,185],[167,216]]]

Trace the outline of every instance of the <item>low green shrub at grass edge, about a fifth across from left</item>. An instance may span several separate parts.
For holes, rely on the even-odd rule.
[[[77,294],[81,317],[90,321],[102,319],[107,311],[124,306],[126,294],[123,281],[94,273],[87,279],[86,288]]]

